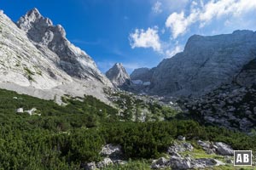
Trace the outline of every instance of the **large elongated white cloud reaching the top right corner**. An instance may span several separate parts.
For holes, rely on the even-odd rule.
[[[171,29],[172,37],[177,38],[186,33],[189,26],[195,22],[204,27],[212,20],[227,16],[230,20],[237,20],[253,10],[256,10],[255,0],[211,0],[206,4],[203,1],[193,1],[189,14],[186,15],[183,11],[170,14],[166,20],[166,27]]]

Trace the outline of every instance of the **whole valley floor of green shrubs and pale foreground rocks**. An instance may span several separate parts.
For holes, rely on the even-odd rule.
[[[1,89],[0,169],[234,169],[230,150],[256,150],[256,136],[182,120],[174,107],[136,98],[115,94],[112,107],[66,95],[57,105]]]

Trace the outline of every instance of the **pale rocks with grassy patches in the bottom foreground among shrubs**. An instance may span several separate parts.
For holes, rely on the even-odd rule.
[[[178,136],[166,150],[166,154],[159,159],[151,160],[147,169],[234,169],[233,151],[229,144],[223,142],[213,143],[200,139],[187,141],[185,137]],[[104,156],[103,161],[85,163],[85,170],[121,168],[129,164],[129,161],[124,160],[124,153],[119,145],[104,145],[99,154]]]

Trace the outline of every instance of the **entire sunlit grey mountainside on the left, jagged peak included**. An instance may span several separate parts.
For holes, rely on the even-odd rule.
[[[94,61],[68,42],[61,26],[49,26],[49,19],[44,19],[37,9],[26,15],[31,17],[28,17],[29,24],[21,21],[18,24],[23,30],[27,26],[28,30],[23,31],[3,11],[0,13],[0,88],[43,99],[57,99],[58,102],[63,94],[90,94],[108,102],[102,88],[112,87],[112,84],[98,71]],[[32,35],[41,37],[38,31],[30,32],[33,27],[43,29],[32,19],[44,20],[48,29],[55,29],[55,32],[49,32],[53,37],[42,37],[44,41],[40,39],[38,42],[29,39]]]

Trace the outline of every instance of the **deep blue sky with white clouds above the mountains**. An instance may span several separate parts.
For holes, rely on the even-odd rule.
[[[16,21],[38,8],[67,38],[107,71],[115,62],[128,72],[154,67],[183,50],[194,34],[256,30],[255,0],[1,0]]]

